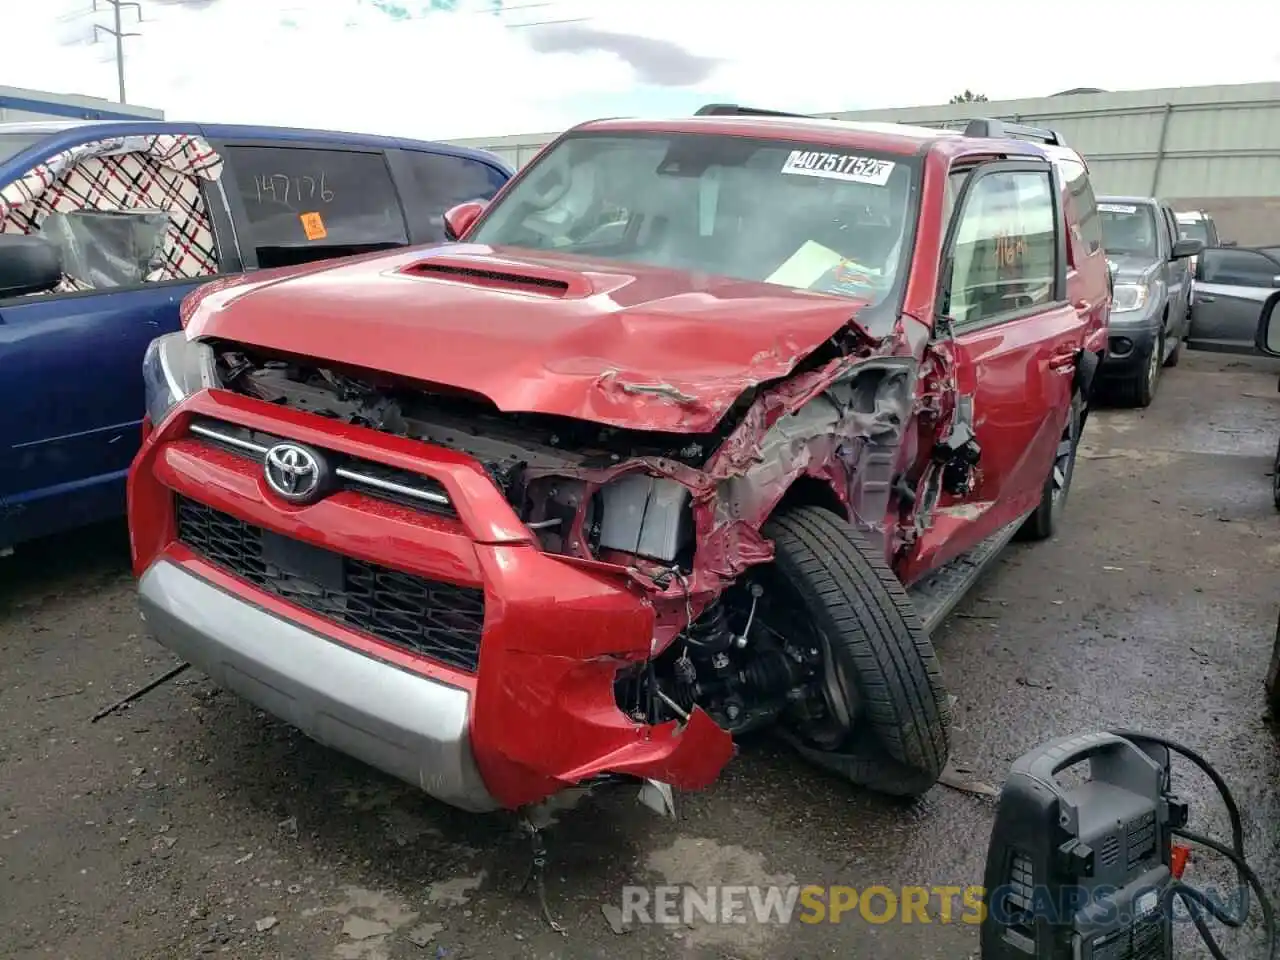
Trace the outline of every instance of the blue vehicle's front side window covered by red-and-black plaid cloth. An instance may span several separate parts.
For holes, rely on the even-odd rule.
[[[55,294],[212,276],[218,247],[204,186],[221,172],[200,137],[81,143],[0,187],[0,233],[59,248]]]

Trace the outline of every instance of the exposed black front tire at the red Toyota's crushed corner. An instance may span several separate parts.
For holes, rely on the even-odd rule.
[[[852,735],[835,750],[783,730],[813,763],[859,786],[915,797],[951,750],[951,716],[933,644],[893,571],[840,516],[786,508],[763,531],[774,570],[808,611],[841,680],[852,690]]]

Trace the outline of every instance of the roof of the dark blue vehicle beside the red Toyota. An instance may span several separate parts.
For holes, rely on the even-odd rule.
[[[73,146],[84,138],[84,134],[102,137],[120,137],[132,133],[159,134],[159,133],[195,133],[210,140],[246,141],[246,140],[285,140],[308,141],[319,143],[355,143],[367,147],[381,147],[383,150],[424,150],[430,148],[453,156],[467,156],[484,160],[503,168],[503,164],[493,154],[474,147],[462,147],[438,141],[411,140],[408,137],[383,137],[372,133],[348,133],[343,131],[316,131],[297,127],[260,127],[250,124],[232,123],[189,123],[182,120],[14,120],[0,122],[0,133],[19,134],[46,134],[50,137],[47,146],[61,148]],[[42,145],[46,146],[46,145]]]

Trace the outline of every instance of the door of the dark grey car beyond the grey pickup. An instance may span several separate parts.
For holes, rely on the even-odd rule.
[[[1256,353],[1258,312],[1280,289],[1280,257],[1248,247],[1201,253],[1187,346],[1216,353]]]

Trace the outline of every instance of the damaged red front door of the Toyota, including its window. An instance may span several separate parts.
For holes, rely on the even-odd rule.
[[[980,447],[973,488],[943,493],[904,579],[934,570],[1034,509],[1066,425],[1085,321],[1066,300],[1059,174],[997,163],[969,179],[948,234],[940,312],[961,416]]]

